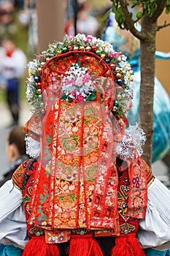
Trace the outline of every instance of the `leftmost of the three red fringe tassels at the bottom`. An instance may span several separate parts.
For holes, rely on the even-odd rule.
[[[45,237],[33,237],[26,244],[22,256],[60,256],[57,244],[45,244]]]

